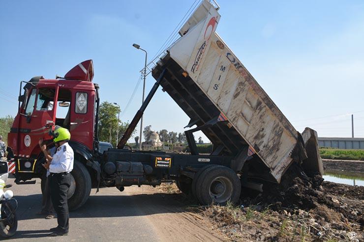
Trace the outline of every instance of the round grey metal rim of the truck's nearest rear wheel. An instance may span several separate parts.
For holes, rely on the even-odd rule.
[[[233,194],[233,183],[226,177],[216,177],[210,183],[209,193],[213,201],[224,203],[229,200]]]

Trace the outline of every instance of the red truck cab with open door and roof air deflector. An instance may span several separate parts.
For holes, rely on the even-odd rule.
[[[18,114],[8,134],[8,161],[16,163],[16,183],[44,176],[38,140],[43,138],[51,147],[49,132],[57,125],[70,131],[69,144],[79,162],[86,163],[98,150],[94,138],[98,95],[92,78],[92,60],[87,60],[63,78],[34,77],[21,82]]]

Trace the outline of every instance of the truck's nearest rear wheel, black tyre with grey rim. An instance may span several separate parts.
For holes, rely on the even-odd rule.
[[[202,205],[212,202],[225,205],[239,200],[242,186],[238,175],[230,168],[213,165],[200,175],[196,184],[197,199]]]

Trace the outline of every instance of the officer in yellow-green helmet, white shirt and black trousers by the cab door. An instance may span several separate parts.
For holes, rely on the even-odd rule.
[[[58,226],[50,229],[53,232],[50,236],[63,236],[68,234],[69,228],[67,192],[71,185],[69,173],[73,169],[74,154],[68,144],[71,134],[67,129],[56,126],[53,137],[57,147],[57,152],[53,157],[48,154],[45,144],[41,145],[40,149],[46,157],[46,163],[43,166],[50,171],[51,200],[58,221]]]

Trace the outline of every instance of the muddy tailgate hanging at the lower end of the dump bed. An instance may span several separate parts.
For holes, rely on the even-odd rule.
[[[324,167],[318,149],[317,132],[310,128],[305,128],[302,137],[307,154],[307,158],[302,161],[304,172],[308,176],[313,176],[318,173],[323,175]]]

